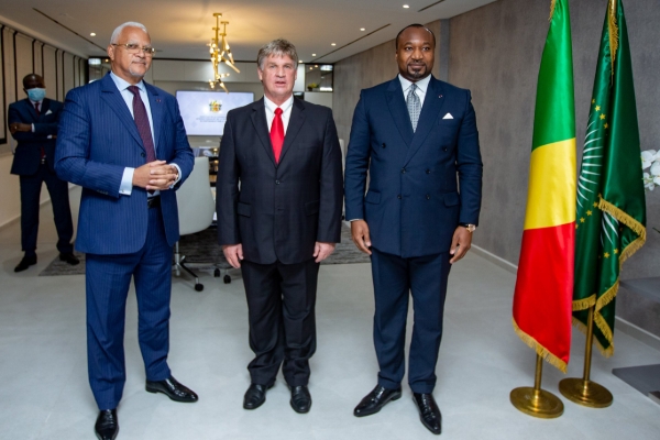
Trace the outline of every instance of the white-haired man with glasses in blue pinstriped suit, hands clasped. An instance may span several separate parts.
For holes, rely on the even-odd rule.
[[[55,169],[82,187],[76,249],[87,254],[87,353],[99,439],[119,431],[131,277],[146,391],[198,399],[167,365],[172,248],[179,239],[174,189],[194,157],[175,98],[142,80],[154,52],[144,25],[117,28],[108,46],[112,72],[69,91],[59,122]]]

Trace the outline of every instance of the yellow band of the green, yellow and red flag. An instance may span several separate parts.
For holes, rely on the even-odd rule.
[[[525,229],[575,221],[575,138],[531,152]]]

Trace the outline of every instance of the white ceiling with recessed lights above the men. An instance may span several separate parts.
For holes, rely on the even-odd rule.
[[[310,62],[386,24],[389,26],[324,56],[333,63],[393,40],[410,23],[448,19],[495,0],[0,0],[0,22],[80,56],[102,56],[113,29],[142,22],[163,58],[208,58],[206,43],[221,12],[234,59],[253,61],[264,43],[285,37]],[[403,4],[409,4],[404,9]],[[51,16],[67,31],[34,9]],[[365,31],[360,31],[364,28]],[[89,34],[95,32],[96,36]],[[336,43],[332,46],[331,43]],[[311,54],[317,54],[314,57]]]

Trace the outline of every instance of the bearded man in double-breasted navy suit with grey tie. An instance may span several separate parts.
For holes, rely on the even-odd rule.
[[[408,383],[421,422],[439,435],[432,392],[447,279],[479,221],[482,161],[470,91],[431,76],[435,50],[436,36],[421,24],[397,35],[398,77],[362,90],[355,108],[344,187],[353,241],[372,258],[381,369],[354,415],[375,414],[402,396],[411,292]]]

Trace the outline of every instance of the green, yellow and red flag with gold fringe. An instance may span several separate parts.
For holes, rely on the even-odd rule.
[[[541,58],[514,329],[565,372],[575,244],[575,103],[568,0],[552,0]]]

